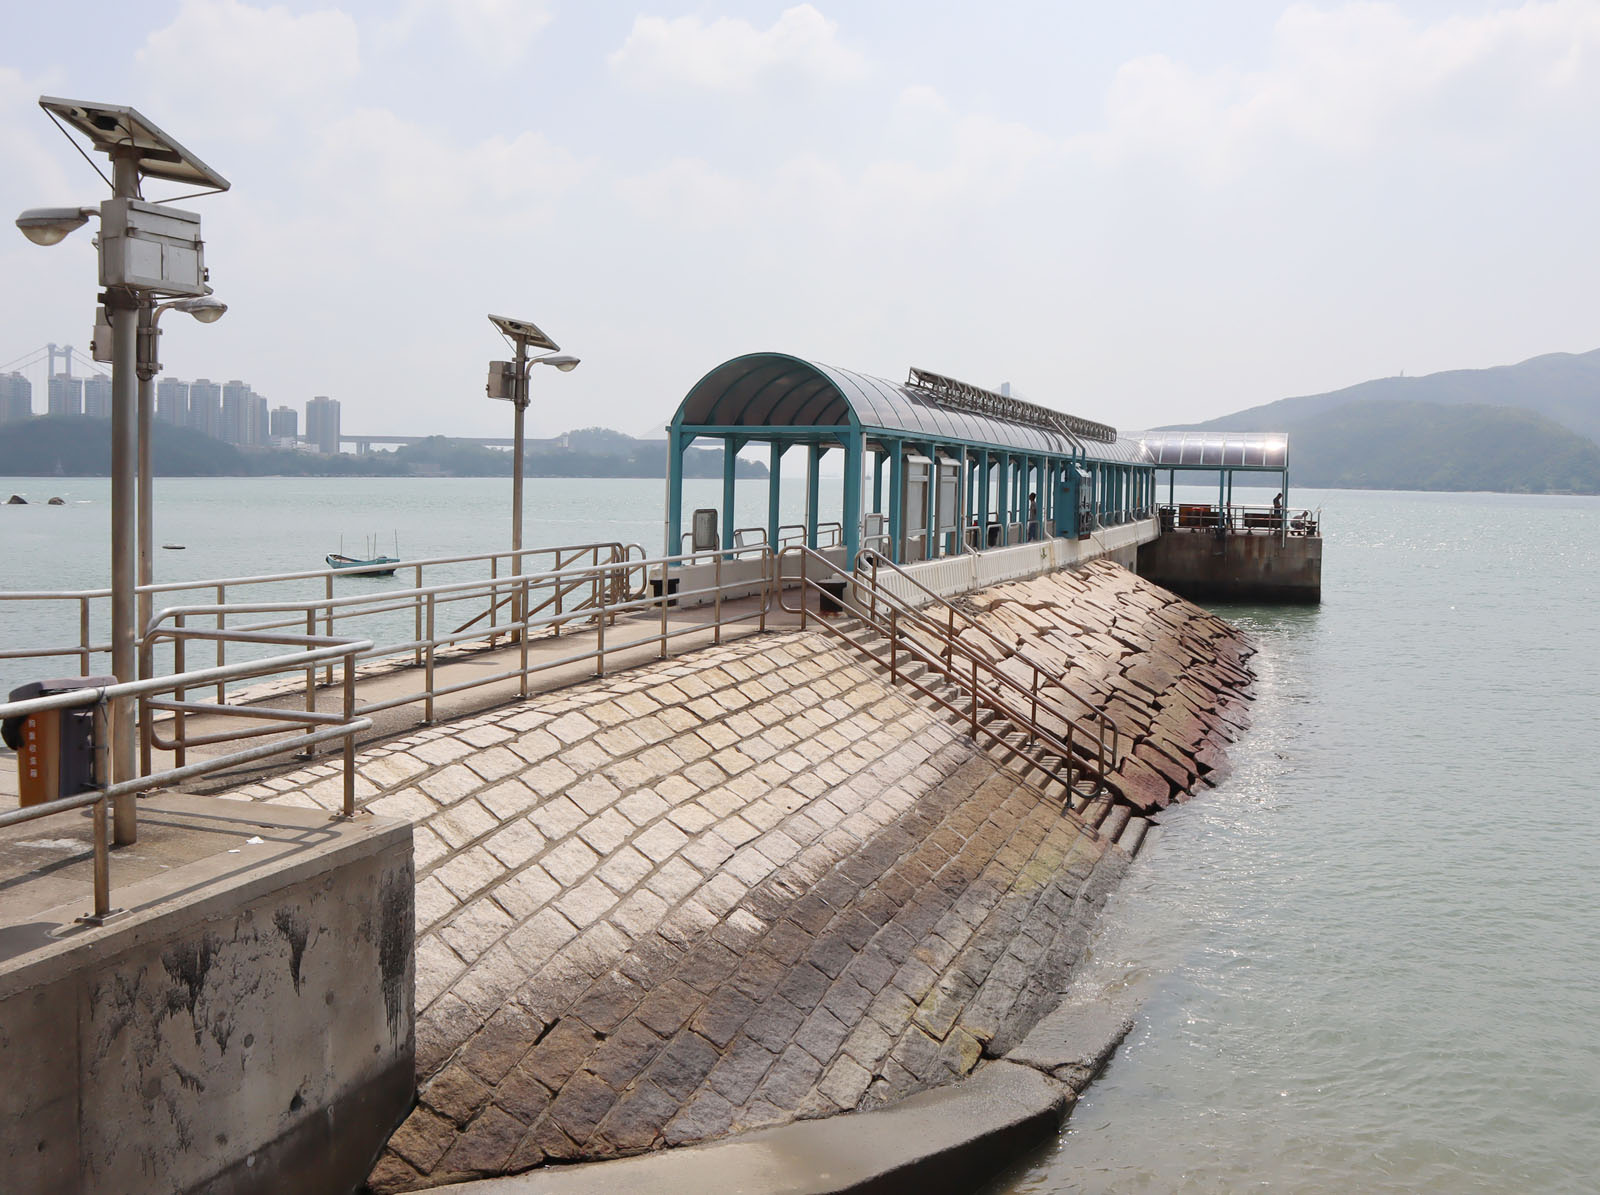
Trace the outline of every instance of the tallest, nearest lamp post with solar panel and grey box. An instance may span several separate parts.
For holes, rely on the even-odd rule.
[[[154,296],[198,299],[210,294],[200,240],[200,218],[141,198],[144,178],[198,184],[206,190],[227,190],[229,182],[200,158],[173,141],[131,107],[88,104],[77,99],[40,96],[38,106],[66,133],[70,126],[112,163],[107,179],[112,198],[98,208],[32,208],[18,229],[35,245],[56,245],[74,229],[98,216],[101,304],[110,323],[110,641],[112,672],[117,680],[138,675],[136,661],[136,458],[139,312]],[[70,141],[70,134],[69,134]],[[104,174],[102,174],[104,178]],[[152,312],[154,333],[154,312]],[[133,736],[133,702],[112,702],[110,779],[136,779],[138,761]],[[104,779],[104,777],[102,777]],[[138,838],[138,811],[133,793],[112,803],[112,838],[118,845]]]

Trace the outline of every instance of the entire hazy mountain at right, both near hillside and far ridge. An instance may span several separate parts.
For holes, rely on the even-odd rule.
[[[1600,349],[1379,378],[1184,427],[1288,432],[1296,485],[1594,494]]]

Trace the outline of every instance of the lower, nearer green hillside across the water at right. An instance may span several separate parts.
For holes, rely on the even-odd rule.
[[[1600,445],[1510,406],[1363,400],[1261,430],[1290,434],[1296,485],[1600,493]]]

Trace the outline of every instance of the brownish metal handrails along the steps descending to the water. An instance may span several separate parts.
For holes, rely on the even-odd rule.
[[[826,570],[829,570],[829,571],[832,571],[832,573],[845,578],[846,581],[853,581],[856,586],[861,586],[861,587],[867,589],[869,594],[872,594],[874,597],[882,597],[883,598],[885,608],[888,611],[888,617],[886,619],[878,616],[877,601],[875,600],[870,605],[867,605],[866,608],[862,608],[861,603],[853,603],[853,608],[854,608],[854,613],[861,617],[862,622],[866,622],[867,625],[874,627],[875,630],[878,630],[880,633],[883,633],[883,635],[886,635],[890,638],[890,645],[891,645],[891,651],[890,651],[890,675],[891,675],[891,678],[899,680],[898,669],[896,669],[896,653],[899,649],[899,645],[904,645],[904,648],[907,651],[910,651],[917,659],[920,659],[923,664],[926,664],[931,670],[934,670],[939,675],[946,677],[946,680],[949,680],[950,683],[954,683],[957,688],[963,688],[968,693],[968,696],[971,697],[970,720],[971,720],[971,728],[973,728],[973,734],[974,736],[979,734],[979,733],[987,733],[990,737],[1003,742],[1006,747],[1011,745],[1010,742],[1005,741],[1003,736],[1000,736],[998,733],[992,731],[987,725],[981,725],[979,723],[978,705],[981,702],[987,709],[994,710],[995,713],[998,713],[1000,717],[1003,717],[1005,720],[1008,720],[1013,726],[1026,731],[1027,736],[1029,736],[1029,742],[1030,744],[1034,744],[1034,742],[1043,742],[1046,747],[1050,747],[1062,760],[1064,766],[1067,766],[1067,776],[1061,776],[1056,769],[1053,769],[1043,760],[1034,758],[1034,761],[1042,769],[1045,769],[1048,774],[1051,774],[1053,779],[1059,781],[1069,792],[1074,792],[1074,793],[1077,793],[1080,797],[1098,797],[1099,793],[1102,793],[1109,787],[1110,769],[1115,766],[1115,761],[1118,758],[1117,728],[1115,728],[1115,723],[1112,723],[1109,718],[1104,718],[1104,715],[1099,715],[1099,721],[1101,721],[1099,733],[1098,734],[1090,734],[1088,731],[1085,731],[1078,725],[1078,720],[1072,713],[1069,713],[1064,709],[1061,709],[1059,705],[1056,705],[1056,702],[1051,701],[1050,697],[1042,697],[1042,694],[1038,693],[1037,683],[1035,683],[1035,686],[1032,689],[1024,688],[1014,677],[1011,677],[1011,675],[1005,673],[1003,670],[1000,670],[992,661],[989,661],[989,659],[979,656],[978,653],[971,651],[960,640],[954,640],[954,638],[944,637],[942,635],[942,629],[936,622],[933,622],[931,619],[926,619],[917,608],[906,605],[904,600],[899,598],[896,594],[893,594],[890,590],[880,589],[877,586],[875,579],[862,578],[859,574],[859,571],[854,573],[854,574],[851,574],[850,571],[846,571],[840,565],[835,565],[834,562],[827,560],[827,557],[822,557],[822,555],[819,555],[816,552],[811,552],[810,549],[805,549],[805,547],[789,547],[789,549],[784,549],[784,552],[786,554],[787,552],[797,552],[797,554],[800,554],[800,573],[798,573],[798,578],[800,578],[802,597],[800,597],[798,608],[790,608],[789,605],[784,603],[782,594],[779,592],[778,594],[778,603],[779,603],[779,608],[782,608],[784,611],[787,611],[787,613],[798,613],[800,614],[800,625],[802,625],[802,629],[806,625],[806,616],[808,616],[806,605],[805,605],[805,590],[806,589],[813,589],[818,594],[826,594],[826,590],[822,589],[822,582],[811,579],[810,574],[808,574],[806,562],[810,558],[810,560],[816,560],[821,566],[824,566]],[[829,598],[834,598],[834,595],[829,595]],[[934,638],[938,638],[941,641],[942,649],[930,649],[928,646],[925,646],[922,641],[918,641],[910,633],[907,633],[906,630],[902,630],[901,621],[909,621],[910,625],[912,625],[912,629],[920,629],[923,632],[930,632]],[[856,646],[858,649],[862,649],[859,643],[856,643],[854,640],[851,640],[848,635],[843,635],[843,632],[840,632],[832,624],[826,624],[826,625],[829,627],[829,630],[832,630],[834,633],[837,633],[842,638],[845,638],[846,641],[850,641],[851,646]],[[872,653],[867,653],[867,654],[872,654]],[[965,670],[962,667],[957,667],[957,664],[955,664],[955,657],[957,656],[960,656],[965,661]],[[877,656],[874,656],[874,659],[877,659]],[[982,680],[979,680],[979,673],[982,673]],[[909,678],[907,678],[907,681],[909,681]],[[909,683],[914,683],[914,681],[909,681]],[[938,697],[938,694],[934,694],[934,693],[931,693],[928,689],[923,689],[922,686],[917,686],[917,688],[918,688],[918,691],[923,691],[930,697],[933,697],[934,701],[938,701],[946,709],[950,709],[952,712],[957,712],[958,715],[962,713],[962,710],[958,710],[954,705],[950,705],[949,702],[942,701],[941,697]],[[1006,701],[1005,696],[1003,696],[1003,691],[1011,691],[1011,693],[1021,694],[1024,697],[1027,707],[1029,707],[1027,712],[1024,713],[1013,702]],[[1059,721],[1061,725],[1066,726],[1066,736],[1067,737],[1066,737],[1064,742],[1061,741],[1061,737],[1054,731],[1048,729],[1046,726],[1043,726],[1040,723],[1040,720],[1038,720],[1040,718],[1040,712],[1043,712],[1045,715],[1054,718],[1056,721]],[[1110,734],[1112,734],[1110,758],[1109,758],[1109,761],[1107,761],[1107,750],[1106,750],[1106,728],[1109,728]],[[1093,750],[1088,750],[1090,744],[1085,744],[1085,747],[1086,747],[1085,750],[1078,750],[1075,747],[1075,739],[1080,734],[1085,739],[1090,739],[1090,742],[1093,744]],[[1078,787],[1077,779],[1074,776],[1074,766],[1072,765],[1074,763],[1088,765],[1090,761],[1093,761],[1093,765],[1094,765],[1093,774],[1091,774],[1093,787],[1088,789],[1088,790],[1085,790],[1085,789]],[[1078,771],[1086,771],[1086,768],[1080,768]]]

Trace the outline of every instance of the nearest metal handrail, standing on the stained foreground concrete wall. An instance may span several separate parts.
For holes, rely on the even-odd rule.
[[[285,637],[288,638],[288,637]],[[310,640],[312,637],[307,637]],[[269,758],[270,755],[282,755],[288,750],[299,750],[307,745],[315,745],[318,742],[326,742],[330,739],[344,741],[344,809],[336,817],[354,817],[355,816],[355,736],[365,729],[371,729],[371,718],[358,718],[350,713],[350,693],[354,693],[354,685],[347,683],[346,696],[346,712],[344,715],[318,715],[317,723],[322,723],[322,729],[310,725],[306,736],[298,736],[286,742],[267,742],[258,747],[248,747],[238,752],[229,752],[227,755],[216,755],[206,760],[200,760],[190,765],[181,765],[176,768],[166,768],[158,773],[149,773],[138,776],[131,781],[123,781],[120,784],[109,784],[104,779],[110,774],[109,755],[110,755],[110,717],[107,713],[109,704],[122,697],[134,697],[141,704],[150,701],[152,693],[163,691],[181,691],[189,686],[211,685],[214,681],[227,681],[238,677],[248,675],[270,675],[275,672],[283,672],[290,669],[314,669],[323,661],[331,661],[344,657],[346,677],[354,681],[354,657],[363,648],[370,648],[371,643],[366,640],[344,640],[333,643],[314,645],[306,651],[296,651],[285,656],[274,656],[270,659],[258,661],[242,661],[238,664],[227,664],[222,667],[198,669],[190,673],[182,673],[176,677],[154,677],[150,680],[131,680],[118,685],[106,685],[104,688],[82,688],[72,689],[69,693],[53,693],[48,697],[30,697],[27,701],[10,701],[0,702],[0,718],[18,718],[29,717],[32,713],[43,713],[46,710],[62,710],[62,709],[94,709],[94,776],[101,777],[101,784],[94,787],[93,792],[75,793],[70,797],[62,797],[54,801],[45,801],[43,805],[29,805],[21,809],[8,809],[0,813],[0,827],[18,825],[21,822],[30,822],[40,817],[51,817],[62,813],[72,813],[85,806],[93,806],[94,819],[94,912],[86,917],[80,917],[78,921],[88,925],[104,925],[107,920],[117,915],[118,910],[110,907],[110,848],[106,833],[106,819],[110,803],[122,797],[133,797],[139,792],[147,792],[149,789],[166,787],[178,784],[181,781],[192,779],[195,776],[205,776],[208,773],[221,771],[224,768],[232,768],[242,763],[253,763],[256,760]],[[296,715],[290,710],[277,710],[282,720],[307,725],[310,720]],[[133,806],[133,816],[138,819],[138,806]]]

